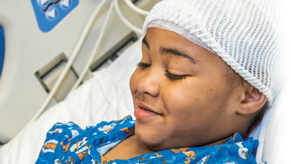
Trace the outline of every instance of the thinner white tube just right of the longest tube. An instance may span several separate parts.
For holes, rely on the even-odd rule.
[[[74,84],[74,86],[72,87],[72,89],[70,90],[69,93],[71,93],[73,90],[75,90],[75,89],[79,86],[79,84],[80,84],[81,81],[83,80],[83,78],[84,78],[86,72],[88,71],[88,69],[89,69],[89,67],[90,67],[90,65],[91,65],[91,63],[92,63],[92,61],[93,61],[93,59],[94,59],[94,57],[95,57],[95,54],[97,53],[97,50],[98,50],[98,48],[99,48],[99,46],[100,46],[100,43],[101,43],[102,37],[104,36],[105,29],[106,29],[106,27],[107,27],[107,25],[108,25],[108,22],[109,22],[109,19],[110,19],[110,15],[111,15],[111,13],[112,13],[112,11],[113,11],[113,5],[114,5],[114,4],[111,2],[110,7],[109,7],[109,9],[108,9],[108,13],[107,13],[106,18],[105,18],[105,21],[104,21],[103,26],[102,26],[102,28],[101,28],[100,34],[99,34],[99,36],[98,36],[97,42],[96,42],[96,44],[95,44],[95,46],[94,46],[94,48],[93,48],[93,51],[92,51],[92,53],[91,53],[91,55],[90,55],[90,57],[89,57],[89,59],[88,59],[88,62],[86,63],[86,65],[85,65],[85,67],[84,67],[82,73],[80,74],[78,80],[76,81],[76,83]]]

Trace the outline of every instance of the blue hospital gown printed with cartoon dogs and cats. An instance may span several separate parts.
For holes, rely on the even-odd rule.
[[[56,123],[47,133],[36,163],[194,163],[239,164],[256,163],[258,140],[249,137],[244,141],[239,133],[229,137],[228,142],[216,146],[190,147],[162,150],[136,156],[127,160],[108,160],[104,154],[123,139],[134,133],[135,121],[131,116],[122,120],[101,122],[82,130],[73,122]]]

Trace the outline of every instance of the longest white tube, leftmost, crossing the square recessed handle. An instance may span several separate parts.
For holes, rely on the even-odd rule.
[[[97,16],[97,14],[99,13],[100,9],[102,8],[102,6],[104,6],[104,4],[106,3],[106,0],[102,0],[100,2],[100,4],[98,4],[97,8],[95,9],[95,11],[93,12],[93,14],[91,15],[89,21],[87,22],[85,29],[72,53],[72,55],[70,56],[67,64],[65,65],[65,68],[63,69],[63,71],[61,72],[61,75],[58,77],[56,83],[54,84],[54,87],[52,88],[52,90],[49,92],[47,98],[45,99],[45,101],[43,102],[42,106],[40,107],[40,109],[38,109],[38,111],[36,112],[36,114],[31,118],[31,120],[26,124],[29,125],[32,121],[36,120],[41,114],[42,112],[47,108],[49,102],[51,102],[52,98],[54,97],[54,94],[56,93],[58,87],[61,85],[64,77],[66,76],[67,72],[69,71],[69,69],[71,68],[75,58],[77,57],[81,46],[83,45],[90,29],[91,26]]]

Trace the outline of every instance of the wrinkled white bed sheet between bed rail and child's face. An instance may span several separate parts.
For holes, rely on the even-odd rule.
[[[68,98],[45,111],[0,148],[0,163],[35,163],[47,131],[57,123],[73,121],[81,128],[100,121],[134,117],[129,78],[141,60],[141,39],[130,46],[107,69],[92,73]]]

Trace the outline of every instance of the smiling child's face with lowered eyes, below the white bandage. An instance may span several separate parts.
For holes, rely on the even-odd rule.
[[[149,28],[143,42],[143,64],[130,79],[136,137],[158,151],[233,135],[239,126],[232,110],[237,100],[229,93],[229,66],[221,57],[159,28]]]

